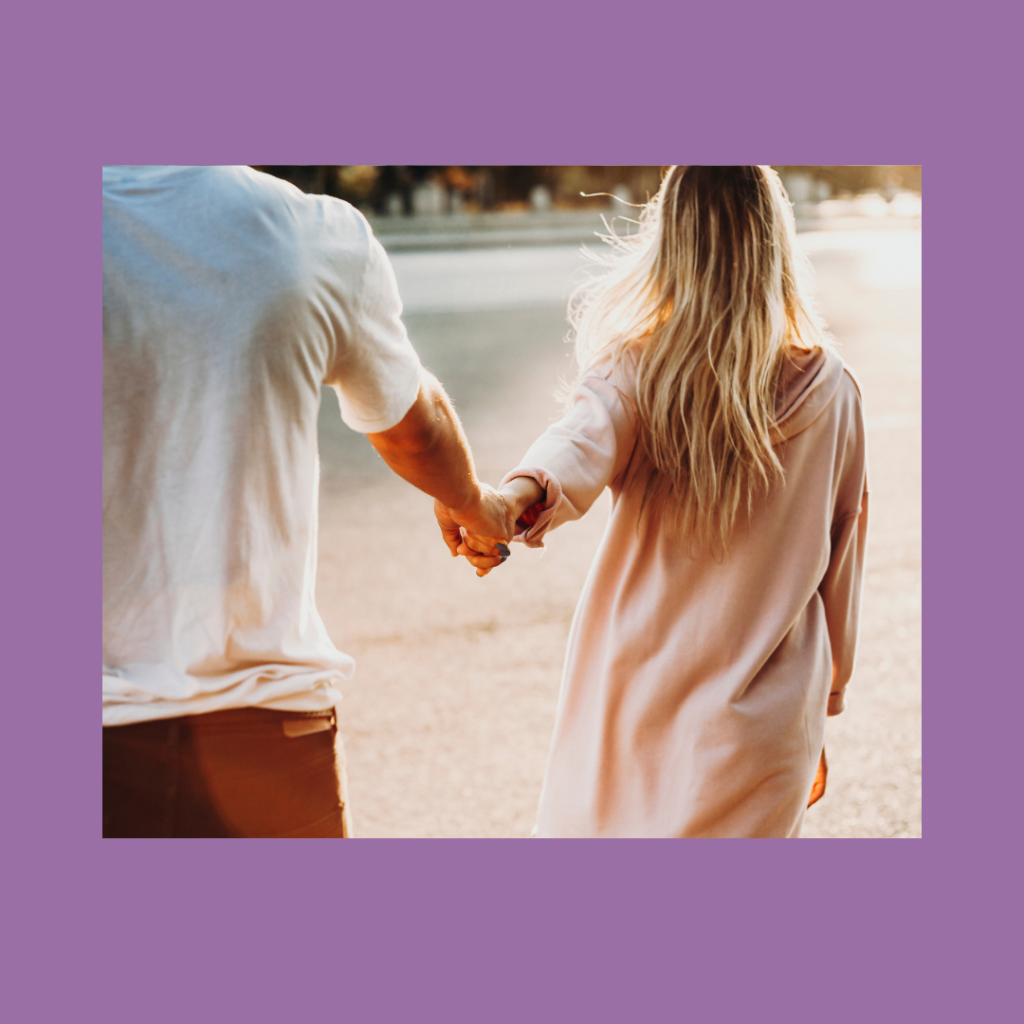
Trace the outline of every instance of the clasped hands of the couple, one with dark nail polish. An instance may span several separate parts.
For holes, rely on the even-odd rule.
[[[498,489],[480,484],[479,499],[465,508],[435,501],[434,516],[452,556],[462,555],[484,577],[509,557],[517,520],[543,500],[544,490],[535,479],[515,477]]]

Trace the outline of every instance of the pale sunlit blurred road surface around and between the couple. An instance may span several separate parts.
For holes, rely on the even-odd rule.
[[[830,719],[806,837],[921,835],[921,232],[801,236],[865,396],[871,515],[861,649]],[[497,483],[559,415],[577,246],[392,255],[406,323]],[[361,837],[525,837],[577,596],[607,497],[486,579],[440,543],[425,496],[321,410],[317,602],[353,654],[341,731]]]

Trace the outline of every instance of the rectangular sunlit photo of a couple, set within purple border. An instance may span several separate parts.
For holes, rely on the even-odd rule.
[[[920,838],[922,180],[104,166],[103,837]]]

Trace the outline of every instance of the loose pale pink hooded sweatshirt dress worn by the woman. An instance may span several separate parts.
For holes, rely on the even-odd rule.
[[[784,480],[716,556],[640,515],[650,467],[634,374],[629,355],[587,374],[506,477],[546,490],[515,538],[529,547],[612,496],[569,632],[537,835],[795,838],[853,671],[867,528],[859,388],[831,349],[787,365]]]

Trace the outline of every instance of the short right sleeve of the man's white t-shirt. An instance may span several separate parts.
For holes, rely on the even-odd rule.
[[[422,368],[401,322],[401,299],[391,262],[360,216],[367,258],[347,330],[325,383],[338,394],[341,418],[360,433],[398,423],[416,401]]]

